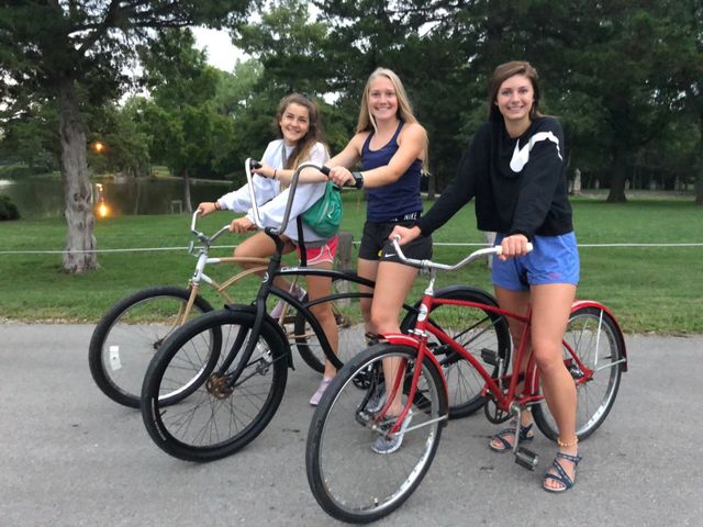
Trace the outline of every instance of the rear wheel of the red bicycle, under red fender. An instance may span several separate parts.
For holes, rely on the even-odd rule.
[[[581,307],[571,313],[563,343],[563,361],[577,388],[576,433],[585,439],[603,424],[615,402],[625,359],[623,337],[605,311]],[[534,406],[533,416],[542,433],[556,441],[559,429],[546,403]]]

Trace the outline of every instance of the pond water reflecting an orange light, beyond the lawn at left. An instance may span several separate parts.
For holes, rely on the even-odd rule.
[[[169,214],[186,211],[183,182],[177,179],[130,179],[125,182],[102,181],[102,194],[111,215]],[[93,195],[98,197],[93,182]],[[193,208],[202,201],[213,201],[233,190],[230,181],[191,180],[190,195]],[[64,186],[56,179],[0,179],[0,195],[9,195],[23,218],[62,217],[65,210]],[[180,204],[179,204],[180,202]]]

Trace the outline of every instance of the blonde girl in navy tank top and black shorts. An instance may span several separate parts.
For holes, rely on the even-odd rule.
[[[399,316],[417,270],[400,262],[388,238],[395,225],[411,225],[422,213],[420,180],[427,156],[427,134],[413,115],[405,89],[398,76],[378,68],[369,77],[356,135],[330,161],[330,178],[337,184],[354,183],[350,168],[361,164],[362,186],[368,189],[367,218],[359,248],[358,273],[376,280],[373,299],[361,299],[366,329],[372,335],[400,334]],[[357,188],[360,184],[357,183]],[[432,238],[419,237],[404,248],[411,258],[429,258]],[[383,360],[383,374],[394,379],[400,367],[397,359]],[[402,412],[400,394],[387,405],[384,416],[395,418]],[[386,394],[377,394],[381,410]],[[371,403],[369,403],[370,405]],[[398,450],[409,413],[391,439],[379,436],[371,449],[377,453]]]

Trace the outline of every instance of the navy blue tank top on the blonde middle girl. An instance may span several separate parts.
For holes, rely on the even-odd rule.
[[[361,170],[371,170],[390,162],[391,157],[398,152],[398,134],[400,134],[403,124],[401,121],[390,141],[378,150],[371,150],[369,147],[373,136],[373,131],[371,131],[361,147]],[[422,161],[415,159],[394,183],[368,189],[367,221],[384,223],[402,220],[408,214],[422,212],[421,178]]]

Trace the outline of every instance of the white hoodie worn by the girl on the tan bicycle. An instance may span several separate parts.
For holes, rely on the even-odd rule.
[[[283,156],[281,150],[286,148],[286,158],[290,155],[293,147],[286,146],[283,139],[272,141],[266,147],[261,161],[266,165],[275,168],[283,168]],[[310,150],[310,156],[304,159],[303,162],[313,162],[315,165],[324,165],[330,159],[327,149],[322,143],[316,143]],[[257,227],[275,227],[278,228],[283,220],[283,212],[286,211],[286,203],[288,202],[289,189],[281,192],[281,183],[278,180],[268,179],[263,176],[253,175],[252,178],[254,184],[254,195],[259,206],[259,217],[261,224],[257,224]],[[298,242],[298,226],[295,218],[310,209],[325,191],[325,182],[319,183],[300,183],[295,190],[295,197],[290,210],[290,217],[288,218],[288,226],[283,234],[294,242]],[[245,184],[241,189],[224,194],[217,200],[222,210],[235,211],[239,213],[246,213],[246,216],[254,223],[254,211],[252,210],[252,200],[249,199],[248,184]],[[322,242],[325,238],[315,234],[304,222],[303,237],[305,242]]]

